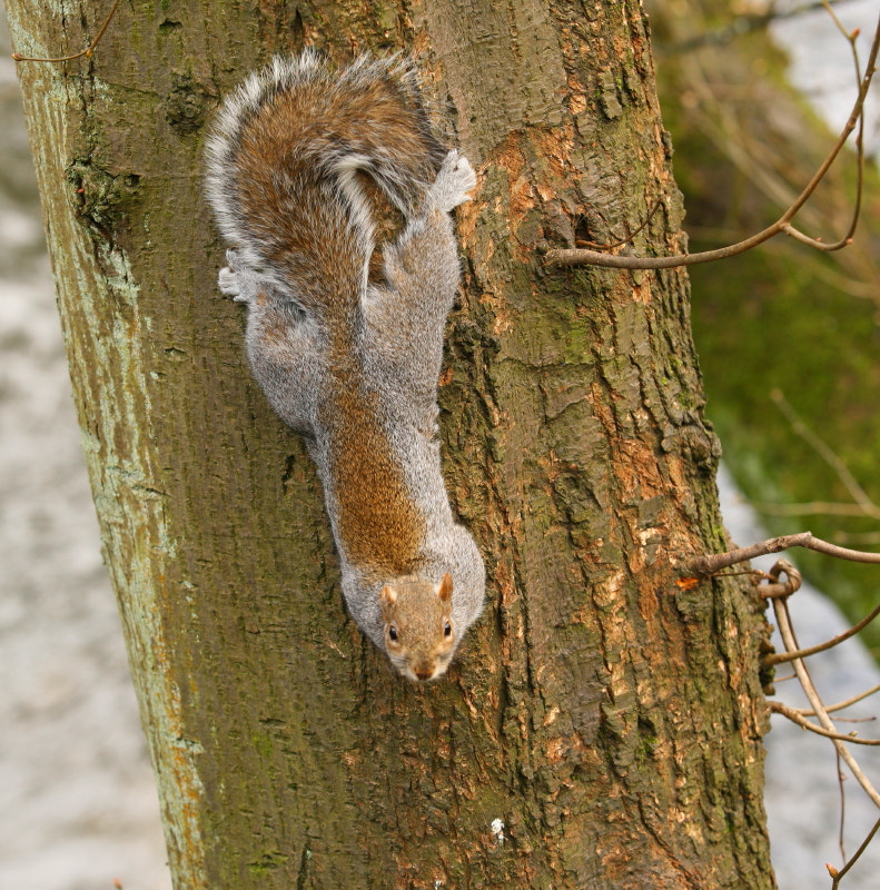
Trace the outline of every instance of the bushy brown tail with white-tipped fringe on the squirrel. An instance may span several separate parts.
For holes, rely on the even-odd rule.
[[[207,194],[245,263],[305,309],[346,312],[374,248],[358,174],[409,215],[445,154],[412,65],[362,57],[336,75],[306,50],[226,100],[207,144]]]

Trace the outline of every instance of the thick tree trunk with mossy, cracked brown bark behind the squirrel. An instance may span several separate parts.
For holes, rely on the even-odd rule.
[[[109,2],[10,0],[16,49]],[[220,96],[305,42],[421,57],[479,174],[442,377],[487,606],[441,682],[345,614],[320,490],[250,378],[201,195]],[[122,3],[22,62],[82,441],[178,890],[770,888],[761,605],[724,547],[637,0]]]

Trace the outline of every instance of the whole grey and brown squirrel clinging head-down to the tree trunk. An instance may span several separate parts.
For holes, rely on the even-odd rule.
[[[364,175],[405,220],[379,284]],[[475,182],[395,58],[338,75],[310,50],[276,58],[226,99],[207,144],[208,199],[233,245],[220,290],[247,304],[254,376],[317,465],[348,609],[411,680],[443,674],[483,607],[437,439],[459,276],[449,211]]]

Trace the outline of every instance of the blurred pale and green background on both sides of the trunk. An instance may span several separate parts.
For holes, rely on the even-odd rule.
[[[848,43],[821,9],[787,14],[821,6],[808,0],[645,4],[691,249],[735,241],[780,215],[832,144],[828,122],[839,127],[849,115]],[[848,28],[873,32],[877,0],[834,8]],[[860,47],[863,59],[867,40]],[[0,889],[169,890],[9,53],[0,24]],[[878,96],[880,87],[873,121]],[[876,122],[867,136],[876,152]],[[846,231],[853,170],[851,158],[840,164],[815,196],[802,216],[809,234],[833,240]],[[740,544],[765,537],[763,524],[773,534],[810,528],[850,546],[880,545],[879,233],[872,164],[863,221],[843,254],[829,259],[777,239],[692,271],[709,414],[730,469],[720,479],[725,521]],[[846,464],[859,496],[799,432],[795,414]],[[817,511],[815,502],[833,508]],[[876,567],[809,557],[795,554],[848,617],[827,596],[797,594],[802,644],[860,617],[880,589]],[[880,652],[880,627],[866,639]],[[813,673],[827,701],[880,682],[856,641],[820,659]],[[790,686],[779,683],[779,696],[797,702]],[[868,702],[861,713],[877,708]],[[860,732],[880,735],[870,724]],[[827,887],[823,863],[842,862],[833,750],[779,718],[767,743],[780,888]],[[878,782],[878,749],[860,759]],[[878,813],[854,782],[846,788],[851,854]],[[878,874],[880,840],[843,887],[877,890]]]

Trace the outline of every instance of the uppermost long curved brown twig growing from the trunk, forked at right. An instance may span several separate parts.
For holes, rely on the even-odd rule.
[[[868,59],[868,67],[864,72],[864,77],[861,78],[860,81],[859,95],[856,99],[856,103],[852,107],[852,112],[850,113],[850,117],[843,127],[843,130],[838,137],[837,142],[834,142],[834,146],[829,152],[828,157],[807,184],[805,188],[772,226],[769,226],[762,231],[759,231],[757,235],[752,235],[750,238],[739,241],[738,244],[720,247],[716,250],[704,250],[698,254],[678,254],[675,256],[666,257],[633,257],[621,256],[617,254],[603,254],[599,250],[572,248],[548,250],[545,256],[545,261],[548,265],[555,266],[576,266],[591,264],[594,266],[603,266],[605,268],[614,269],[670,269],[679,266],[692,266],[699,263],[713,263],[718,259],[726,259],[728,257],[751,250],[753,247],[758,247],[758,245],[770,240],[780,233],[785,233],[798,240],[807,241],[820,250],[839,250],[842,247],[846,247],[851,240],[851,235],[848,235],[848,237],[842,238],[833,244],[825,244],[814,238],[809,238],[809,236],[800,233],[791,225],[791,220],[803,207],[803,205],[807,204],[819,182],[821,182],[821,180],[824,178],[850,135],[856,129],[857,123],[861,125],[863,119],[864,98],[868,95],[868,90],[870,89],[871,81],[877,70],[876,65],[878,51],[880,51],[880,19],[878,19],[877,30],[874,31],[874,38],[871,44],[871,53]],[[860,140],[857,140],[857,148],[863,155]],[[852,228],[852,224],[850,227]]]

